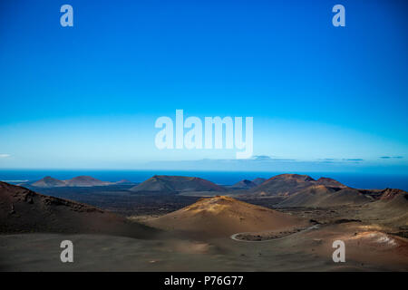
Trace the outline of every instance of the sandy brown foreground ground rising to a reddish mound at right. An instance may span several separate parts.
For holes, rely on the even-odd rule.
[[[73,241],[74,262],[60,261],[60,243]],[[332,243],[345,241],[345,263]],[[229,237],[141,240],[98,235],[0,236],[2,271],[408,271],[406,239],[349,223],[270,242]]]

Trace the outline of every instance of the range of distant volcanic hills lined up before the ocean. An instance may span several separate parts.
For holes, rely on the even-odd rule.
[[[281,198],[277,207],[332,207],[340,205],[359,205],[404,192],[399,189],[373,190],[352,189],[335,179],[313,179],[307,175],[281,174],[270,179],[243,179],[232,186],[221,186],[207,179],[184,176],[155,175],[141,184],[122,179],[117,182],[102,181],[90,176],[59,180],[44,177],[34,182],[19,184],[29,188],[62,187],[103,187],[128,185],[128,190],[137,194],[189,194],[200,192],[203,195],[230,195],[238,198]],[[131,187],[131,185],[133,185]],[[391,190],[391,191],[390,191]],[[205,194],[205,193],[208,194]],[[388,197],[390,198],[390,197]]]

